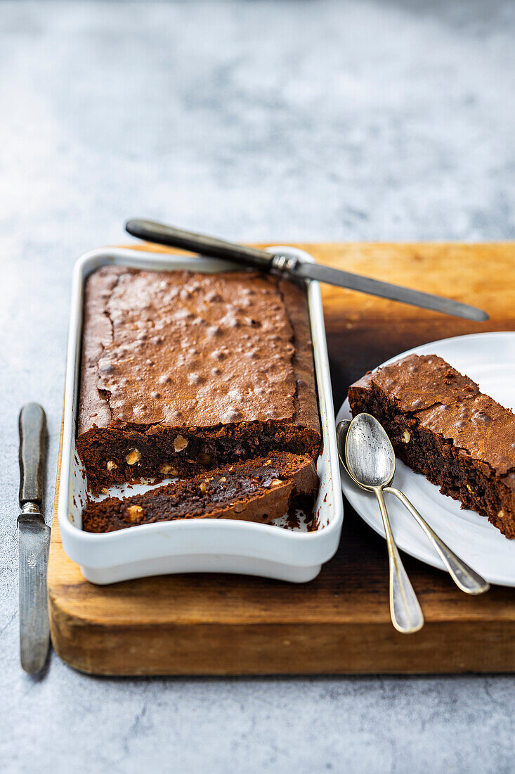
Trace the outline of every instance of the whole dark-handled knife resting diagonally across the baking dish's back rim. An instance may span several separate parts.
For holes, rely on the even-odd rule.
[[[371,296],[380,296],[401,303],[410,303],[414,307],[422,307],[442,314],[451,314],[454,317],[463,317],[465,320],[488,320],[488,314],[476,307],[470,307],[467,303],[453,301],[442,296],[433,296],[431,293],[421,293],[420,290],[383,283],[378,279],[363,277],[351,272],[343,272],[340,269],[331,269],[319,263],[301,261],[291,255],[273,255],[265,250],[245,245],[234,245],[231,242],[196,234],[193,231],[183,231],[155,221],[134,219],[127,221],[125,228],[129,234],[145,241],[157,242],[159,245],[178,247],[189,252],[197,252],[200,255],[209,255],[213,258],[221,258],[239,264],[252,266],[260,271],[280,272],[291,278],[315,279],[319,283],[328,283],[350,290],[359,290],[360,293],[369,293]]]

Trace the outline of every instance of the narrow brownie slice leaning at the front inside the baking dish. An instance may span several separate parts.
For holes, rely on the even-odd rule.
[[[294,502],[312,505],[318,476],[310,457],[279,453],[206,471],[144,495],[89,502],[86,532],[106,533],[172,519],[244,519],[267,523]]]

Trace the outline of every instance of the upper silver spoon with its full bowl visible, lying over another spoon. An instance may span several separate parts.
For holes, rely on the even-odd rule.
[[[370,414],[358,414],[350,423],[345,440],[346,467],[357,484],[377,497],[390,560],[391,620],[398,632],[411,634],[422,628],[424,616],[401,562],[384,504],[383,487],[394,477],[395,455],[390,441],[385,444],[377,432],[377,424]]]

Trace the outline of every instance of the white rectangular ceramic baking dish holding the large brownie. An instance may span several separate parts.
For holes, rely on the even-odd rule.
[[[313,260],[294,248],[271,248],[272,252]],[[60,475],[58,518],[63,548],[87,580],[109,584],[118,580],[184,572],[222,572],[260,575],[303,583],[319,574],[322,563],[333,557],[343,523],[338,456],[333,412],[326,332],[319,283],[307,288],[312,327],[323,451],[317,462],[320,478],[315,502],[318,529],[314,532],[286,529],[281,521],[264,525],[232,519],[185,519],[122,529],[106,534],[81,529],[81,511],[86,498],[82,465],[75,454],[77,404],[80,384],[84,282],[104,265],[137,269],[190,269],[201,272],[234,270],[234,265],[188,255],[161,255],[121,248],[88,252],[73,272],[67,376],[64,398],[63,458]],[[134,489],[131,490],[134,493]],[[120,490],[110,490],[116,495]]]

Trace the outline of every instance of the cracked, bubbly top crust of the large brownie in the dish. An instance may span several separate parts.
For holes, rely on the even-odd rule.
[[[298,417],[318,428],[302,289],[254,272],[88,278],[79,434]]]

